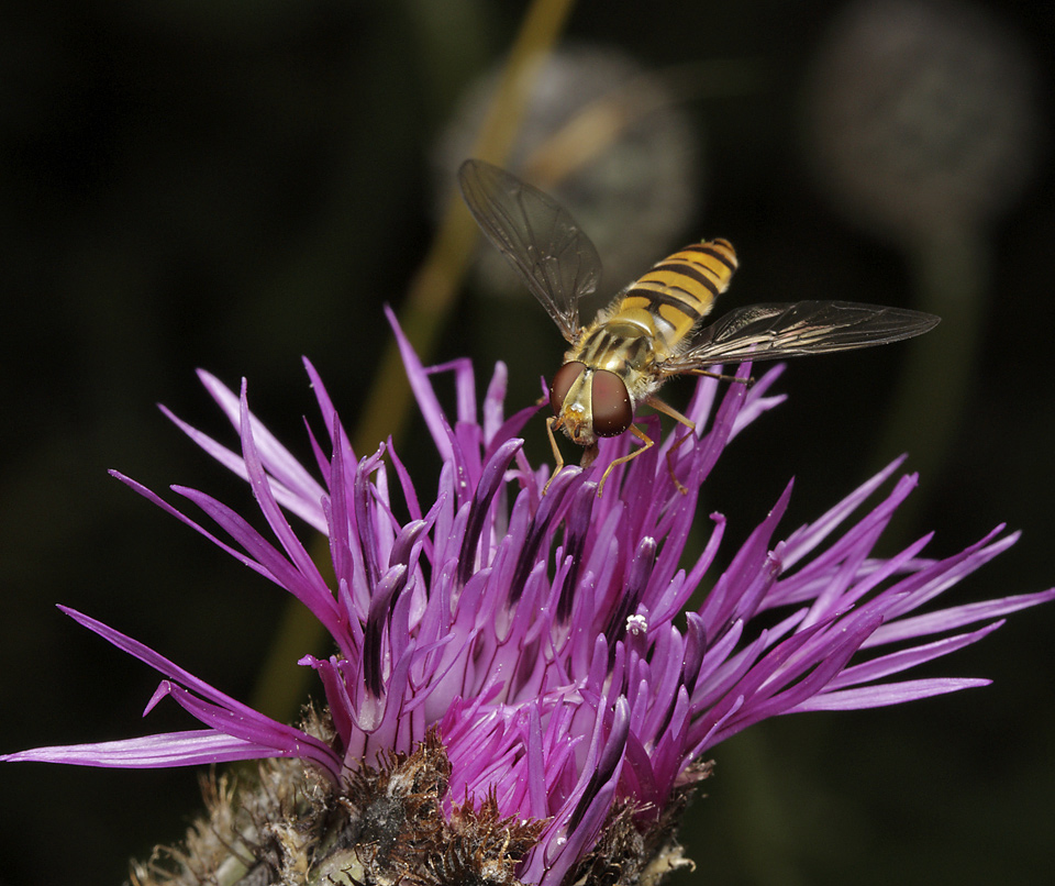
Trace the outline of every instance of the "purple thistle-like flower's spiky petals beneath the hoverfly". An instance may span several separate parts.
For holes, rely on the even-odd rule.
[[[322,683],[327,728],[271,720],[62,607],[163,675],[147,710],[169,696],[204,729],[3,760],[156,767],[296,757],[314,764],[354,820],[365,807],[353,790],[364,773],[392,769],[438,740],[446,760],[436,778],[442,815],[477,827],[474,816],[490,810],[506,828],[495,850],[502,870],[522,883],[557,886],[597,863],[606,830],[615,827],[643,838],[641,868],[660,854],[677,865],[670,810],[708,774],[702,756],[730,735],[781,713],[870,708],[985,685],[898,675],[1055,597],[1048,590],[919,614],[1017,534],[998,527],[941,560],[922,555],[930,535],[890,558],[873,556],[915,486],[913,475],[902,476],[875,500],[899,459],[817,521],[774,541],[789,485],[682,619],[724,530],[721,514],[711,514],[703,551],[682,566],[701,486],[732,439],[782,401],[768,394],[782,367],[751,387],[730,385],[720,402],[718,381],[698,383],[686,413],[708,430],[674,451],[673,469],[687,494],[667,466],[671,435],[618,467],[598,497],[600,472],[628,451],[624,434],[602,441],[596,468],[564,469],[543,496],[547,470],[532,468],[517,438],[535,409],[504,418],[504,366],[496,367],[479,418],[469,362],[423,368],[389,317],[443,462],[434,497],[414,486],[390,443],[366,457],[352,451],[307,362],[327,435],[311,435],[321,483],[249,412],[244,383],[235,395],[200,374],[238,432],[240,453],[166,412],[249,483],[271,538],[204,492],[173,487],[230,540],[222,541],[114,473],[295,595],[325,625],[335,653],[300,663]],[[745,365],[738,374],[748,372]],[[433,390],[438,373],[454,377],[454,417]],[[647,433],[658,439],[657,427]],[[287,514],[329,538],[334,586]],[[530,839],[517,827],[529,828]],[[455,878],[446,855],[422,863],[431,873],[410,882]]]

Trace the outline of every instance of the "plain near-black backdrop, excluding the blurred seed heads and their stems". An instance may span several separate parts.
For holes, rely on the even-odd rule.
[[[3,751],[191,726],[173,705],[141,722],[153,672],[56,602],[236,697],[252,693],[280,594],[106,470],[248,503],[154,408],[163,401],[221,432],[198,366],[230,384],[247,376],[257,412],[306,459],[300,355],[354,424],[388,339],[381,304],[400,304],[434,230],[434,141],[523,12],[484,0],[21,5],[0,33]],[[704,199],[669,247],[701,232],[733,240],[743,261],[735,303],[915,303],[903,254],[833,209],[803,157],[806,71],[842,4],[611,5],[581,3],[569,35],[648,68],[747,59],[764,73],[748,95],[685,107],[704,144]],[[963,420],[941,468],[922,479],[923,502],[898,527],[901,538],[936,529],[936,554],[998,521],[1024,530],[957,589],[964,601],[1055,582],[1055,201],[1044,141],[1055,16],[1047,3],[984,8],[1035,71],[1036,170],[985,235],[993,266]],[[496,309],[470,294],[436,359],[506,359],[520,406],[558,359],[547,324],[526,295]],[[738,441],[713,478],[708,507],[730,516],[732,538],[791,475],[786,531],[868,475],[907,353],[789,369],[791,402]],[[940,395],[942,373],[923,384]],[[541,422],[533,433],[541,440]],[[924,445],[899,446],[914,442]],[[413,448],[402,451],[433,476],[434,459]],[[699,866],[679,882],[1048,882],[1053,630],[1055,608],[1030,611],[929,672],[989,676],[990,688],[785,718],[717,749],[711,796],[685,833]],[[130,855],[180,837],[198,808],[192,769],[8,766],[0,796],[3,886],[120,883]]]

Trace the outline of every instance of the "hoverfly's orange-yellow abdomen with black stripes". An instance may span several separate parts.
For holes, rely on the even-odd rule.
[[[652,317],[662,350],[669,352],[711,310],[734,270],[736,252],[728,240],[686,246],[631,286],[609,322],[640,323],[641,311],[645,311]]]

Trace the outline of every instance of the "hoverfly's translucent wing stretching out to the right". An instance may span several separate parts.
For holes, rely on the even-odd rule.
[[[852,351],[921,335],[937,317],[902,308],[852,301],[752,304],[730,311],[700,330],[689,350],[664,361],[664,375],[690,373],[715,363],[778,359]]]

